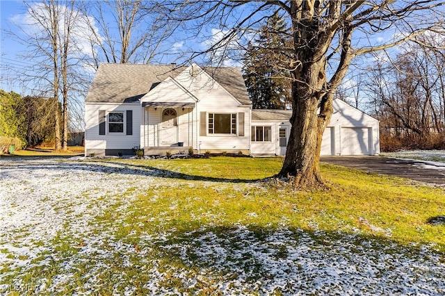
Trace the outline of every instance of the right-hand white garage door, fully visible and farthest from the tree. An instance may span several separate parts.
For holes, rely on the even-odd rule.
[[[341,128],[341,155],[370,155],[368,128]]]

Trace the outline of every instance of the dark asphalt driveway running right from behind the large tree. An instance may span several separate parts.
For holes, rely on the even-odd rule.
[[[445,163],[381,156],[321,156],[321,162],[445,185]]]

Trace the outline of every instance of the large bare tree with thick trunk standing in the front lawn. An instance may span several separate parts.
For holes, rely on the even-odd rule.
[[[291,133],[281,176],[296,186],[323,183],[321,140],[333,113],[332,100],[353,58],[394,47],[425,31],[444,31],[444,1],[295,0],[163,1],[170,19],[183,19],[198,32],[204,26],[227,29],[208,52],[248,39],[261,19],[277,11],[291,24],[293,51],[274,67],[291,72]],[[196,31],[195,31],[196,32]],[[382,33],[387,35],[382,35]],[[380,34],[380,35],[379,35]],[[386,41],[385,41],[386,40]]]

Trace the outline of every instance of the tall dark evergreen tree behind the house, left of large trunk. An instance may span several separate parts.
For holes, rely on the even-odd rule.
[[[248,44],[244,79],[252,108],[286,109],[291,102],[289,70],[278,69],[277,60],[291,60],[291,36],[284,19],[275,13],[261,26],[259,36]]]

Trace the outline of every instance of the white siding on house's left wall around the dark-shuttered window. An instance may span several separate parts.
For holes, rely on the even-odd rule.
[[[99,110],[106,112],[106,133],[99,135]],[[133,111],[133,134],[127,135],[126,111]],[[124,132],[108,133],[108,113],[124,113]],[[92,104],[85,105],[85,148],[88,149],[131,149],[140,145],[140,104]],[[88,153],[88,152],[87,152]]]

